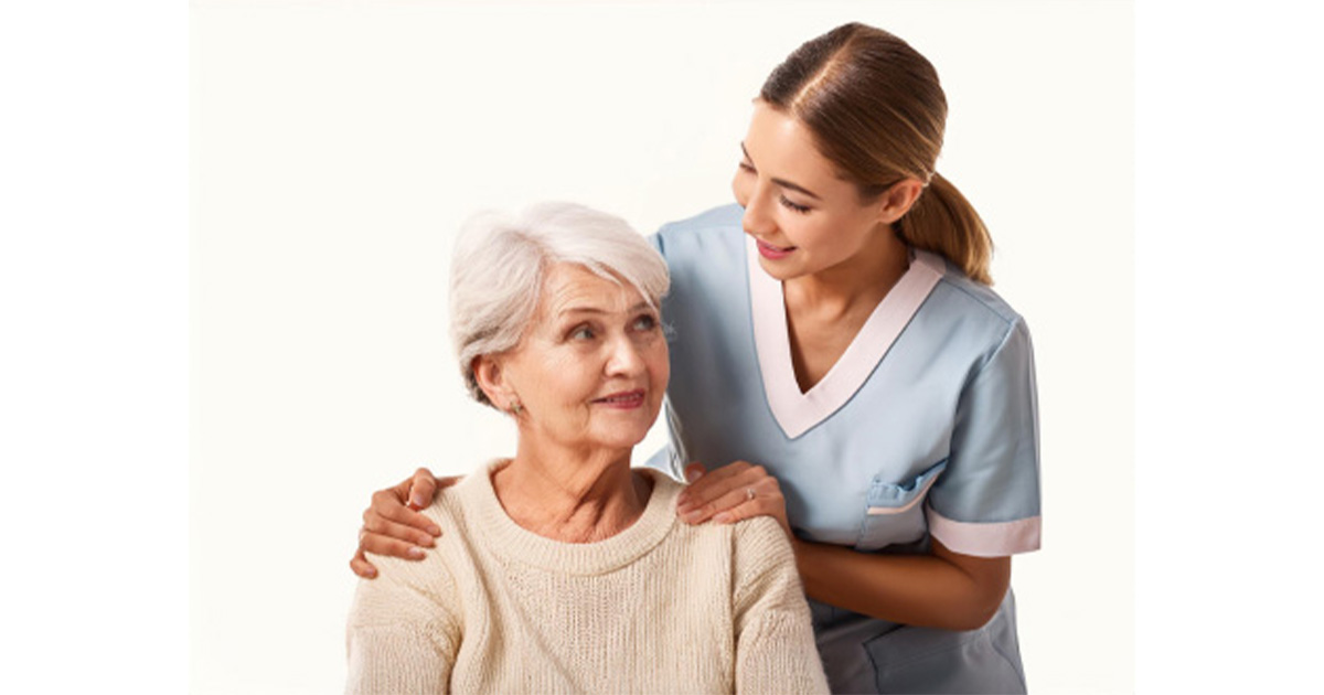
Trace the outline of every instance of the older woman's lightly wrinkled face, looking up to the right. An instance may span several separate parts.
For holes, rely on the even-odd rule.
[[[568,263],[547,274],[532,324],[500,365],[530,436],[587,447],[642,441],[670,376],[657,310],[628,283]]]

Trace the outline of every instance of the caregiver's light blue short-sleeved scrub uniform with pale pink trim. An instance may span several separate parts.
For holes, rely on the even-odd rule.
[[[780,283],[737,205],[663,226],[671,447],[681,478],[743,459],[777,478],[794,533],[859,552],[1008,556],[1039,544],[1039,445],[1025,322],[940,257],[911,270],[837,365],[794,385]],[[683,453],[682,453],[683,451]],[[835,692],[1023,692],[1008,592],[978,630],[912,627],[810,601]]]

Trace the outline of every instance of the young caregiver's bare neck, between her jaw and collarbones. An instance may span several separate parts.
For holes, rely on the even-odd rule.
[[[794,298],[816,312],[847,314],[853,308],[873,310],[910,267],[910,248],[891,228],[880,229],[873,241],[846,261],[782,283],[788,302]]]

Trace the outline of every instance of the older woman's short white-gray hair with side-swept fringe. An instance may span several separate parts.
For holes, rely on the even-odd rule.
[[[515,216],[471,217],[450,261],[450,338],[465,385],[478,402],[493,405],[478,387],[474,359],[519,344],[543,277],[555,263],[625,281],[654,308],[671,285],[662,254],[613,214],[573,203],[539,203]]]

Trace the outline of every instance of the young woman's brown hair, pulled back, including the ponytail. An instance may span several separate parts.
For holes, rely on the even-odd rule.
[[[768,75],[759,99],[804,123],[863,200],[904,179],[927,184],[894,225],[896,233],[992,285],[988,228],[935,171],[947,97],[937,71],[910,44],[863,24],[838,26],[788,56]]]

